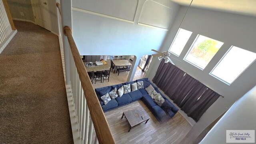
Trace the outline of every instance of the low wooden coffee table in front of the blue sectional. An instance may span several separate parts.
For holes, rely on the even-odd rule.
[[[122,118],[125,117],[126,122],[129,125],[129,130],[128,132],[130,132],[131,128],[142,123],[145,122],[145,124],[148,122],[149,120],[149,116],[147,114],[147,112],[144,110],[144,108],[142,107],[136,107],[134,109],[131,110],[127,110],[123,112]],[[121,118],[121,119],[122,119]]]

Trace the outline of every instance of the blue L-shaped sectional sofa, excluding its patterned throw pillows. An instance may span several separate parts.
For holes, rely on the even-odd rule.
[[[117,88],[119,89],[122,87],[122,85],[128,85],[135,83],[137,81],[143,81],[144,83],[144,89],[138,89],[136,91],[127,93],[122,95],[122,97],[116,97],[116,99],[111,99],[106,105],[104,105],[104,102],[100,99],[102,95],[105,95],[106,93],[109,93],[112,89]],[[102,107],[102,110],[104,112],[108,110],[112,110],[114,108],[121,107],[123,105],[128,105],[134,101],[142,100],[145,105],[150,109],[150,111],[154,114],[156,119],[158,121],[161,121],[163,119],[170,119],[172,118],[177,112],[178,108],[176,108],[162,93],[162,97],[164,98],[165,101],[170,102],[170,110],[166,112],[166,110],[163,110],[159,105],[157,105],[154,100],[150,97],[150,95],[147,93],[145,90],[146,87],[149,85],[152,85],[157,93],[160,93],[157,87],[155,87],[149,80],[148,78],[143,78],[143,79],[137,79],[136,81],[130,81],[126,83],[121,83],[118,85],[112,85],[112,86],[107,86],[107,87],[100,87],[95,89],[96,95],[98,97],[98,100],[100,101],[100,105]]]

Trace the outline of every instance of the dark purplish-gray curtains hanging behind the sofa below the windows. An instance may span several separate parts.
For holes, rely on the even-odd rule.
[[[220,95],[162,60],[152,81],[196,122]]]

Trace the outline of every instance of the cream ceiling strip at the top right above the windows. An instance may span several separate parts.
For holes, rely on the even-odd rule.
[[[191,0],[171,0],[189,6]],[[192,7],[256,16],[256,0],[193,0]]]

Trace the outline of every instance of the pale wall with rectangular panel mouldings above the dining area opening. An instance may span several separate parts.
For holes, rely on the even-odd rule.
[[[135,55],[134,65],[151,49],[160,49],[179,9],[170,0],[73,0],[72,7],[81,55]]]

